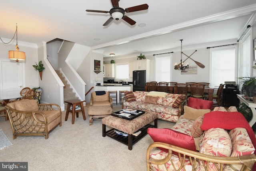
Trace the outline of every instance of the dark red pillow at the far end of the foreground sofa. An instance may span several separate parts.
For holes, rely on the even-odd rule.
[[[210,109],[212,110],[213,101],[203,100],[200,98],[190,97],[188,98],[187,106],[192,107],[194,109]]]

